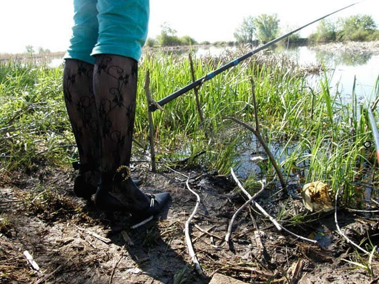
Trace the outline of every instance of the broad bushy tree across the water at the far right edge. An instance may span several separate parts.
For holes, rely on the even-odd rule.
[[[339,39],[366,40],[375,32],[375,21],[369,15],[355,15],[346,19],[340,18]]]

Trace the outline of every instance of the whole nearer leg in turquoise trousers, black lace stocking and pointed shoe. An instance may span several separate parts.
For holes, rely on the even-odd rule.
[[[93,90],[99,116],[102,180],[95,204],[140,217],[158,213],[168,194],[142,193],[129,176],[137,61],[147,36],[149,1],[98,0],[99,36]]]

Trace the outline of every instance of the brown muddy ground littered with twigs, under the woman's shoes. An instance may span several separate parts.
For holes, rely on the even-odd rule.
[[[135,230],[128,229],[125,214],[109,216],[74,197],[75,173],[69,169],[41,167],[32,175],[3,172],[0,282],[208,283],[214,273],[252,283],[375,283],[378,279],[375,258],[372,274],[344,261],[356,261],[357,253],[336,232],[334,214],[307,213],[296,194],[278,193],[270,198],[276,192],[271,188],[257,201],[272,216],[280,216],[287,229],[318,239],[319,245],[276,231],[251,207],[236,219],[227,250],[223,238],[228,221],[245,201],[229,177],[183,168],[175,168],[177,173],[163,168],[153,174],[138,167],[140,171],[133,175],[143,178],[141,188],[168,191],[171,201],[159,218]],[[201,197],[191,236],[204,275],[194,269],[184,240],[184,223],[196,203],[184,176],[192,178],[191,188]],[[298,213],[307,216],[294,225],[291,217]],[[346,210],[338,213],[347,236],[358,243],[372,236],[376,245],[378,221],[368,217]],[[92,233],[106,239],[99,240]],[[41,272],[30,268],[25,250]],[[367,262],[368,256],[361,260]]]

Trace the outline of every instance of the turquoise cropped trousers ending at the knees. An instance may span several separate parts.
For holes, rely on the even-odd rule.
[[[94,64],[96,54],[139,60],[148,34],[149,0],[74,0],[74,26],[64,59]]]

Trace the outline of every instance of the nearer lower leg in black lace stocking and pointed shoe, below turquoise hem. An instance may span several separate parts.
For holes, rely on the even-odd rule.
[[[137,91],[137,62],[99,54],[93,69],[101,145],[101,183],[95,204],[106,211],[126,210],[134,221],[158,214],[168,194],[142,193],[129,176]]]

